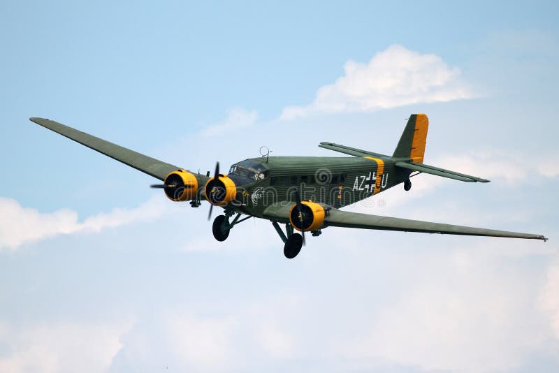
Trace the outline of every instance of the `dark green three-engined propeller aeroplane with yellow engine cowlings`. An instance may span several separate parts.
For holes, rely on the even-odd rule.
[[[305,243],[305,232],[318,236],[329,226],[547,240],[543,235],[340,210],[340,207],[398,184],[403,184],[404,189],[409,191],[412,187],[410,177],[419,173],[462,182],[488,182],[423,163],[428,129],[425,114],[409,117],[392,156],[321,142],[319,147],[349,156],[266,155],[234,163],[227,174],[220,173],[217,163],[213,175],[209,171],[202,175],[173,166],[49,119],[31,118],[31,121],[161,180],[163,184],[152,187],[164,189],[170,200],[189,200],[192,207],[200,206],[201,200],[208,200],[208,219],[213,206],[222,207],[224,214],[216,217],[212,226],[218,241],[226,240],[231,228],[250,217],[270,220],[284,242],[287,258],[295,258],[299,254]],[[285,224],[285,231],[279,224]]]

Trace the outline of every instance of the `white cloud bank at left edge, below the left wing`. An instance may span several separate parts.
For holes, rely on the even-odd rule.
[[[115,209],[78,221],[78,213],[62,209],[41,213],[34,208],[22,207],[17,200],[0,198],[0,250],[17,249],[22,244],[45,238],[78,232],[99,232],[133,221],[154,219],[163,213],[161,198],[154,196],[132,209]]]

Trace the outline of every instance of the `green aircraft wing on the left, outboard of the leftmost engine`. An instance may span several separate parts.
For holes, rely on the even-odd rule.
[[[91,136],[85,132],[64,126],[64,124],[49,119],[29,118],[29,120],[162,181],[165,180],[168,173],[180,169],[180,167],[134,152],[133,150],[126,149],[126,147],[121,147],[101,138],[96,138],[95,136]]]

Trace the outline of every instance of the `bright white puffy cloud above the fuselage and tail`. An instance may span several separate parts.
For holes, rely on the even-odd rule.
[[[349,60],[344,75],[320,87],[310,105],[284,108],[281,119],[312,113],[368,112],[412,103],[472,98],[460,80],[460,69],[451,68],[435,54],[420,54],[391,45],[368,63]]]

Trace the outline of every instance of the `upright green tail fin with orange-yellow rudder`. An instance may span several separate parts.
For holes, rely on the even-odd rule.
[[[429,119],[425,114],[412,114],[409,116],[406,128],[398,141],[398,146],[392,156],[398,158],[411,158],[415,163],[423,163],[425,144],[427,142],[427,129]]]

